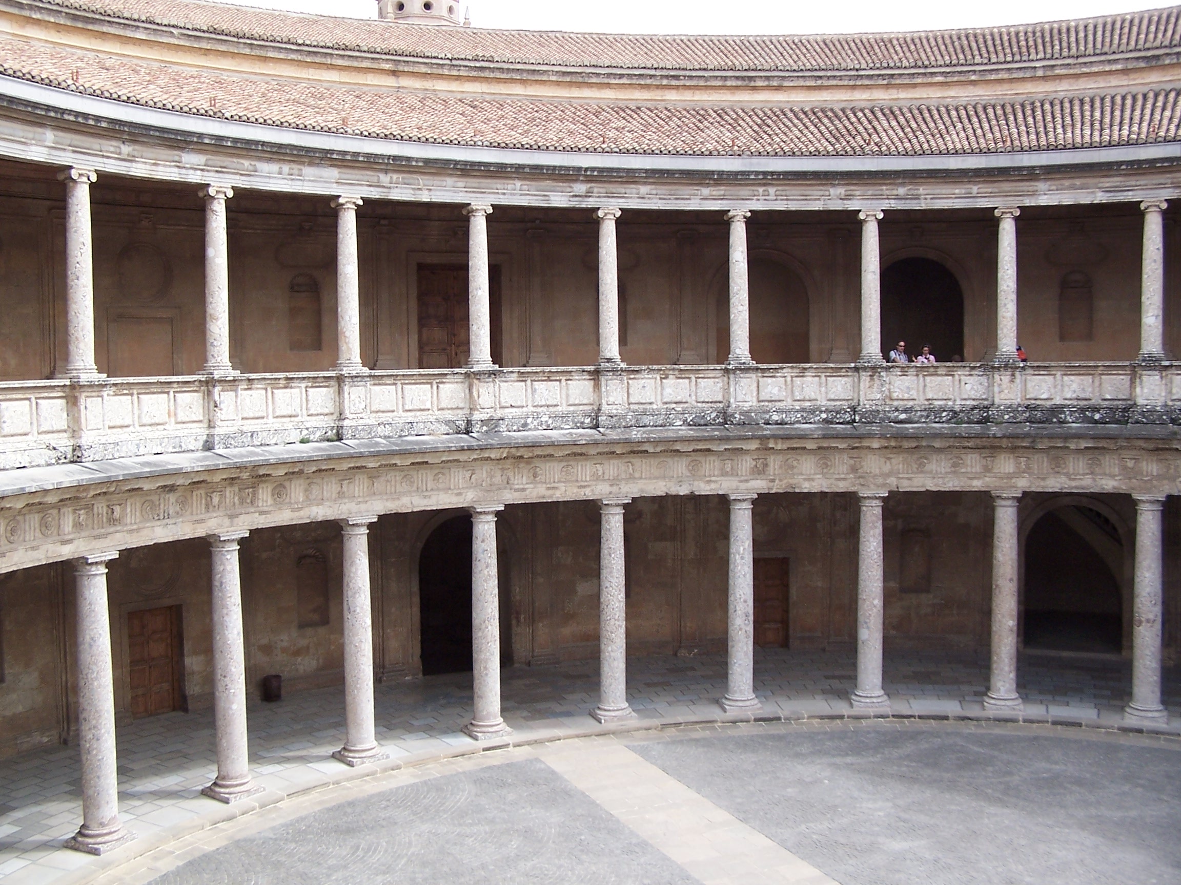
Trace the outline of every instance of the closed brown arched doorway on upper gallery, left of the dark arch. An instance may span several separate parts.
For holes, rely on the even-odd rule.
[[[755,362],[808,362],[808,288],[791,268],[763,256],[750,260],[750,355]],[[718,362],[730,355],[730,291],[718,296]]]

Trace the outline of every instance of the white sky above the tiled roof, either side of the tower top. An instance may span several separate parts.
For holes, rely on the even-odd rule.
[[[377,0],[229,0],[376,18]],[[648,34],[807,34],[1013,25],[1134,12],[1161,0],[461,0],[476,27]]]

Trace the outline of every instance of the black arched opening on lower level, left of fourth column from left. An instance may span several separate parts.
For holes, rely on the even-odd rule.
[[[448,519],[418,556],[423,675],[471,670],[471,517]]]

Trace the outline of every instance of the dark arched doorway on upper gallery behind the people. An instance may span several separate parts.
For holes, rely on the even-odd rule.
[[[918,356],[924,345],[940,362],[964,356],[964,293],[955,275],[931,258],[901,258],[882,271],[882,349],[899,341]]]

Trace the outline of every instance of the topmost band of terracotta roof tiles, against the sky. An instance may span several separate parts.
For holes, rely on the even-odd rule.
[[[839,72],[1074,60],[1181,47],[1181,7],[1039,25],[894,34],[644,37],[488,31],[195,0],[31,0],[171,28],[383,55],[653,71]]]

